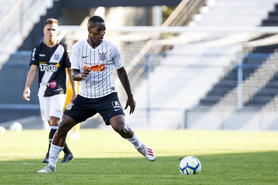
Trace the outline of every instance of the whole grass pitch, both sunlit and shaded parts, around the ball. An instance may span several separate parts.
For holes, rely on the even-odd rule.
[[[7,130],[0,134],[0,184],[278,184],[278,132],[136,133],[156,152],[154,162],[112,130],[81,129],[80,139],[67,139],[74,160],[58,163],[56,173],[38,174],[46,166],[48,132]],[[187,155],[200,160],[200,174],[180,173]]]

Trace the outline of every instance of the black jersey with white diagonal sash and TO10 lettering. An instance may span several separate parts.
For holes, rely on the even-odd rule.
[[[45,41],[33,48],[30,65],[37,65],[39,71],[38,96],[66,94],[66,68],[71,67],[70,49],[63,42],[54,47]]]

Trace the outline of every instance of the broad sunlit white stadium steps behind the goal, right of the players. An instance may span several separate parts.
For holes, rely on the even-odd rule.
[[[188,26],[260,26],[277,2],[209,0]],[[191,32],[166,40],[177,44],[149,79],[133,90],[136,110],[131,115],[126,111],[126,123],[139,129],[183,128],[185,110],[196,106],[225,74],[224,68],[233,65],[242,43],[256,36],[259,34]],[[152,110],[149,114],[146,107]]]

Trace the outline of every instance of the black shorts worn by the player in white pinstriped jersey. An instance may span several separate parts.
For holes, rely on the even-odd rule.
[[[99,113],[106,125],[110,125],[110,118],[124,114],[120,104],[118,93],[114,92],[101,98],[84,98],[77,95],[72,102],[66,106],[64,114],[70,116],[77,123]]]

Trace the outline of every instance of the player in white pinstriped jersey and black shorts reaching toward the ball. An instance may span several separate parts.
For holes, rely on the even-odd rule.
[[[111,125],[121,137],[131,142],[145,158],[150,161],[156,158],[155,152],[138,139],[131,126],[125,124],[123,108],[113,81],[114,67],[127,94],[124,109],[130,106],[130,114],[134,112],[135,100],[119,49],[104,39],[105,29],[105,22],[101,17],[91,17],[88,21],[89,37],[72,46],[72,77],[80,81],[81,91],[66,107],[63,119],[52,139],[49,164],[38,173],[56,171],[57,159],[64,148],[69,130],[96,113],[100,113],[105,124]]]

